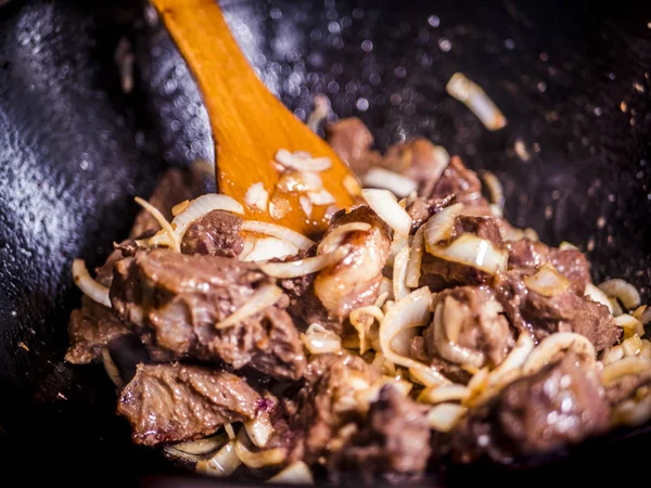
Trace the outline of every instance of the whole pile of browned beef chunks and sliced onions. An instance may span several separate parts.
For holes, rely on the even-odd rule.
[[[279,182],[244,202],[170,169],[94,278],[75,261],[66,359],[103,361],[135,442],[215,476],[400,481],[651,416],[635,287],[592,283],[577,247],[503,217],[497,178],[425,139],[380,154],[355,118],[328,139],[362,182],[353,208],[305,153],[260,162]],[[328,231],[283,227],[286,194]]]

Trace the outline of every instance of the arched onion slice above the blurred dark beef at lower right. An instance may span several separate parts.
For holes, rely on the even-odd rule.
[[[540,371],[553,361],[559,352],[570,349],[583,357],[588,367],[595,363],[597,352],[586,336],[573,332],[557,332],[540,341],[526,358],[522,369],[525,374]]]

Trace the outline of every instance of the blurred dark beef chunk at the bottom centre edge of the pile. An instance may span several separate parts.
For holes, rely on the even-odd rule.
[[[330,477],[337,483],[358,474],[369,485],[378,476],[393,483],[421,477],[431,452],[426,412],[425,406],[384,385],[358,433],[330,458]]]

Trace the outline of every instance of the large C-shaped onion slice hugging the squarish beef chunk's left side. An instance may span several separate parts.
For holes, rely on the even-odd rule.
[[[410,368],[422,373],[424,377],[434,383],[448,383],[436,369],[427,367],[422,362],[409,358],[408,349],[400,347],[400,351],[394,351],[394,339],[404,331],[423,326],[430,323],[432,313],[430,312],[431,293],[426,286],[416,290],[396,303],[384,316],[380,324],[380,345],[384,357],[395,364]],[[408,346],[407,346],[408,347]]]

